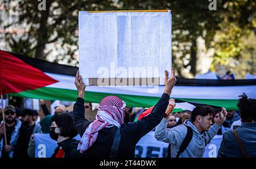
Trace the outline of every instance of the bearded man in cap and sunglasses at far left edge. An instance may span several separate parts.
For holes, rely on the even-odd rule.
[[[5,143],[5,130],[2,122],[0,125],[0,158],[13,158],[22,122],[15,118],[16,110],[13,105],[7,105],[4,109],[4,113],[7,145]]]

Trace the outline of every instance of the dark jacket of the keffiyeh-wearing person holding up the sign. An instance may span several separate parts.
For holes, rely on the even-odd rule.
[[[121,140],[119,143],[118,157],[134,157],[135,145],[148,132],[155,128],[163,119],[170,96],[163,94],[150,115],[137,122],[130,122],[121,125]],[[84,117],[84,99],[77,98],[73,108],[73,120],[75,128],[80,136],[84,134],[86,128],[91,123]],[[116,126],[104,128],[98,133],[96,142],[86,150],[87,157],[105,157],[108,158],[114,140],[114,131]]]

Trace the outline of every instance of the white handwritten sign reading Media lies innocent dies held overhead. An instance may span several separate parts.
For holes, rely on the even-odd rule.
[[[164,84],[164,70],[171,71],[171,11],[80,11],[79,70],[87,85],[96,78]]]

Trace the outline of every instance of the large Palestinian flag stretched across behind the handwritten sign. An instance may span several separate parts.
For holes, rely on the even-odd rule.
[[[21,81],[28,85],[27,88],[24,88],[24,91],[17,91],[18,93],[11,95],[46,100],[76,100],[77,90],[74,81],[78,67],[60,65],[2,50],[0,50],[0,53],[0,72],[3,69],[7,69],[5,64],[13,65],[13,67],[23,64],[23,66],[31,66],[29,73],[31,71],[37,73],[34,76],[28,76],[28,73],[20,69],[15,69],[11,73],[5,70],[5,74],[21,79]],[[9,61],[2,62],[6,58]],[[225,107],[227,110],[236,110],[238,95],[245,92],[249,98],[256,99],[255,88],[255,79],[209,80],[178,78],[176,86],[172,90],[171,98],[179,99],[183,102],[216,105],[218,107]],[[85,101],[100,103],[101,99],[105,96],[115,95],[125,101],[127,106],[151,107],[158,102],[163,91],[164,86],[86,86]]]

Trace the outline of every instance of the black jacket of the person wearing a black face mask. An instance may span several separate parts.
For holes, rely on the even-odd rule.
[[[82,157],[84,157],[84,155],[77,150],[78,143],[79,143],[79,141],[77,141],[73,138],[68,138],[67,140],[57,143],[58,146],[54,150],[54,153],[52,154],[51,158],[55,158],[55,155],[59,151],[60,147],[63,149],[63,151],[65,153],[64,158],[82,158]]]

